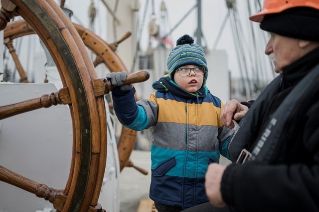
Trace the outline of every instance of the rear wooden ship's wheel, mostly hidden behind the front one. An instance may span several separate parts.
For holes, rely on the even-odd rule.
[[[86,29],[85,27],[76,23],[73,23],[73,25],[79,33],[79,35],[81,36],[84,45],[96,55],[96,59],[93,62],[94,67],[103,63],[110,72],[120,72],[124,70],[129,73],[126,66],[123,64],[123,61],[119,58],[115,51],[117,49],[117,46],[126,38],[128,38],[131,35],[131,33],[128,32],[119,41],[108,44],[95,33]],[[20,76],[19,81],[22,83],[29,83],[29,80],[15,52],[15,49],[13,47],[13,40],[34,33],[35,32],[30,26],[30,24],[28,24],[25,20],[17,20],[10,22],[3,30],[4,44],[8,48],[13,58],[15,67]],[[147,174],[147,171],[134,166],[133,163],[129,160],[129,157],[135,145],[136,138],[137,131],[131,130],[124,126],[122,127],[122,132],[118,140],[120,170],[122,171],[125,166],[133,166],[134,168],[138,169],[141,173]]]

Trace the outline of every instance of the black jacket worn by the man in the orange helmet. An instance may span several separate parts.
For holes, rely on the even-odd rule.
[[[253,157],[224,171],[228,205],[241,212],[319,211],[318,61],[319,48],[287,66],[240,121],[231,159],[242,148]]]

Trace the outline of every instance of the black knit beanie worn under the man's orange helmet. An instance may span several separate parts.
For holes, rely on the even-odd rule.
[[[280,13],[267,14],[260,28],[286,37],[319,41],[319,10],[294,7]]]

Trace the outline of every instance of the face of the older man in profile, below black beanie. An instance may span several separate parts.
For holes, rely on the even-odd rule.
[[[299,46],[299,39],[285,37],[270,32],[270,39],[266,45],[265,54],[274,62],[275,72],[283,73],[283,68],[301,58],[304,53]]]

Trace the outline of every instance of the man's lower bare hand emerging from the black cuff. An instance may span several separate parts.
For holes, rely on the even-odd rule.
[[[221,179],[226,167],[217,163],[212,163],[208,166],[205,175],[206,195],[210,203],[218,208],[225,207],[220,191]]]

